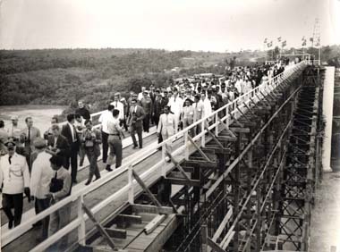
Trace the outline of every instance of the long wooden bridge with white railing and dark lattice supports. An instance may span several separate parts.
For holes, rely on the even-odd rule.
[[[68,251],[308,251],[323,144],[322,69],[311,64],[160,144],[155,129],[138,152],[124,139],[122,167],[38,215],[28,206],[21,225],[3,226],[2,249],[44,251],[67,235]],[[32,224],[64,206],[70,223],[38,243]]]

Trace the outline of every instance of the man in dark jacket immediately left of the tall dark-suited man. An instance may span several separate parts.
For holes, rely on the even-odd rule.
[[[54,124],[51,127],[52,135],[47,137],[47,152],[51,155],[60,155],[63,157],[63,166],[67,166],[67,158],[70,155],[70,145],[67,139],[61,135],[60,127],[58,124]]]

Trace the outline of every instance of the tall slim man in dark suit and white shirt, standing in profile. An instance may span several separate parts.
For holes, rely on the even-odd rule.
[[[72,177],[72,182],[76,183],[77,182],[77,171],[78,171],[78,150],[80,147],[80,139],[77,134],[77,131],[75,130],[74,127],[74,121],[75,117],[73,113],[70,113],[67,115],[67,123],[63,125],[63,130],[62,130],[62,135],[67,139],[71,151],[66,158],[66,169],[69,169],[70,167],[70,160],[71,160],[71,177]]]

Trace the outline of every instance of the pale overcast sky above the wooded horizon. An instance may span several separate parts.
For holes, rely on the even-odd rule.
[[[316,18],[321,45],[340,44],[340,0],[0,0],[0,48],[291,47]]]

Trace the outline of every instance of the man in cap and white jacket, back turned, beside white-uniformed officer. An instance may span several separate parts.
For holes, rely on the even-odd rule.
[[[57,125],[55,125],[57,126]],[[59,127],[59,126],[58,126]],[[32,172],[30,179],[30,194],[35,199],[34,206],[36,214],[44,211],[49,207],[49,199],[46,195],[49,193],[49,186],[54,172],[49,164],[49,159],[52,157],[45,150],[47,148],[44,139],[35,139],[33,142],[37,158],[32,164]],[[45,217],[42,221],[42,236],[41,240],[48,237],[48,223],[49,216]],[[40,239],[39,239],[40,240]]]

